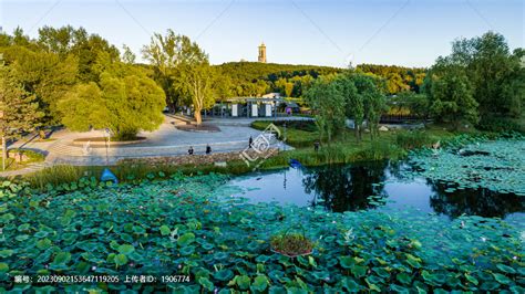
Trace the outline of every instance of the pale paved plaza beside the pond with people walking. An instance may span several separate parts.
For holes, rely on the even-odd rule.
[[[166,116],[165,122],[157,130],[138,134],[138,136],[146,137],[146,140],[126,146],[111,146],[107,154],[104,147],[73,145],[73,140],[78,138],[102,137],[101,130],[74,133],[61,129],[53,133],[50,140],[40,141],[33,136],[11,145],[9,148],[40,151],[45,155],[45,161],[20,170],[0,172],[0,177],[30,174],[53,165],[104,166],[115,165],[124,158],[181,156],[187,154],[189,146],[194,147],[196,154],[204,154],[208,144],[214,153],[239,151],[248,146],[250,136],[256,139],[261,134],[260,130],[249,127],[253,120],[256,119],[208,119],[206,123],[219,126],[220,132],[196,133],[177,129],[175,127],[177,124],[185,123]],[[282,148],[284,145],[276,143],[272,147]],[[286,146],[286,148],[292,149],[290,146]]]

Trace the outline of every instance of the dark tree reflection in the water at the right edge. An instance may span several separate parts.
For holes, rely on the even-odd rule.
[[[432,183],[434,193],[430,197],[430,206],[440,214],[451,219],[461,214],[486,218],[505,218],[509,213],[525,211],[525,199],[514,193],[497,193],[488,189],[456,189],[445,192],[450,187],[445,183]]]

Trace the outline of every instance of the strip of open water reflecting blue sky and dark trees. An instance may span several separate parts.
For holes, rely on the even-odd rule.
[[[445,192],[450,188],[445,183],[433,183],[423,178],[402,179],[399,170],[400,165],[388,162],[325,166],[258,174],[234,179],[233,183],[248,188],[243,196],[253,202],[323,206],[337,212],[412,207],[451,219],[461,214],[524,217],[525,199],[516,195],[473,189]],[[389,201],[378,207],[378,199]]]

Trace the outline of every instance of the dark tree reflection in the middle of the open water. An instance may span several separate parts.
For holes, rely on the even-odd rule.
[[[306,193],[315,195],[312,206],[321,204],[334,212],[370,209],[375,207],[370,203],[370,196],[387,197],[383,191],[387,166],[385,161],[325,166],[307,170],[302,185]]]

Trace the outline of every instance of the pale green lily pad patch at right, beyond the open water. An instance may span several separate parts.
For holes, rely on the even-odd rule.
[[[422,149],[410,156],[413,170],[449,185],[447,192],[464,188],[486,188],[500,193],[525,196],[525,138],[490,140],[487,137],[457,137],[443,149]]]

